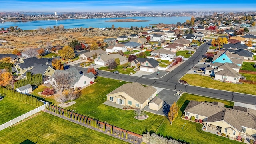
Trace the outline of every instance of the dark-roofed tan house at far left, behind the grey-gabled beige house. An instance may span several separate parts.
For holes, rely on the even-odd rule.
[[[31,70],[34,67],[35,63],[48,65],[48,59],[47,58],[38,59],[36,57],[33,57],[33,58],[27,58],[27,59],[21,60],[20,63],[15,66],[16,72],[18,73],[18,77],[19,75],[24,74],[28,70]]]

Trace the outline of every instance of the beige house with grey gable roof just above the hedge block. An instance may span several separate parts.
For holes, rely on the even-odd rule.
[[[48,65],[34,63],[34,66],[31,70],[27,70],[24,74],[21,75],[22,79],[27,78],[27,72],[30,72],[32,75],[42,74],[42,76],[50,77],[52,74],[54,74],[55,70]]]

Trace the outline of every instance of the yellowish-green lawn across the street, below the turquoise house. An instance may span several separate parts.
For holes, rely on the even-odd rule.
[[[199,74],[186,74],[181,78],[181,80],[186,80],[188,84],[193,86],[202,86],[205,88],[256,95],[256,85],[254,84],[232,84],[220,82],[218,80],[212,80],[209,76],[201,76]]]

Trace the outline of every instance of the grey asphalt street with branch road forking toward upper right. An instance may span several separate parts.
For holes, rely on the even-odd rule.
[[[234,102],[242,102],[246,104],[256,104],[256,96],[250,94],[242,94],[236,92],[228,92],[224,90],[216,90],[211,88],[202,88],[197,86],[190,86],[180,84],[178,80],[184,76],[190,69],[193,68],[200,60],[202,60],[204,54],[207,52],[210,46],[210,41],[202,44],[198,47],[196,52],[180,66],[163,76],[162,78],[143,78],[136,76],[128,76],[126,74],[113,74],[112,72],[98,71],[98,76],[112,78],[116,80],[124,80],[128,82],[138,82],[149,86],[156,86],[159,88],[165,88],[169,90],[182,90],[190,94],[196,94],[200,96],[208,96],[212,98],[218,98],[223,100],[230,100]],[[86,68],[76,66],[78,71],[86,72]],[[195,79],[196,80],[196,79]]]

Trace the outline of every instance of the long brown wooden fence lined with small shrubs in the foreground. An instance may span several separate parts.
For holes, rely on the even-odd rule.
[[[59,107],[57,107],[57,106],[49,105],[49,107],[50,107],[50,108],[53,108],[53,109],[58,108],[58,110],[60,110],[60,112],[62,112],[62,113],[68,112],[69,114],[71,114],[71,117],[72,117],[72,116],[80,117],[81,119],[83,119],[84,121],[86,121],[86,123],[87,123],[88,121],[91,122],[91,121],[96,120],[96,119],[94,119],[94,118],[89,118],[89,117],[83,116],[83,115],[81,115],[81,114],[76,114],[76,113],[71,112],[71,111],[69,111],[69,110],[65,110],[65,109],[63,109],[63,108],[59,108]],[[122,132],[122,131],[123,131],[123,132],[127,132],[128,134],[130,134],[130,135],[132,135],[132,136],[137,136],[138,138],[142,138],[142,135],[136,134],[136,133],[134,133],[134,132],[130,132],[129,130],[122,129],[122,128],[119,128],[119,127],[116,127],[116,126],[107,124],[107,123],[105,123],[105,122],[101,122],[101,121],[99,121],[99,120],[96,120],[96,122],[97,122],[97,124],[100,124],[100,128],[103,128],[103,126],[106,126],[106,127],[109,127],[109,128],[112,127],[113,130],[119,130],[120,132]]]

